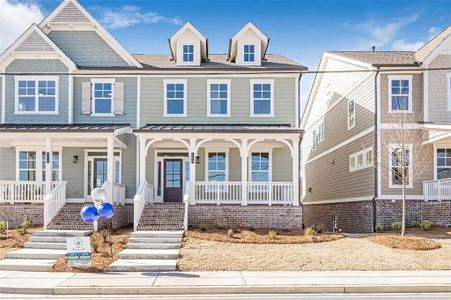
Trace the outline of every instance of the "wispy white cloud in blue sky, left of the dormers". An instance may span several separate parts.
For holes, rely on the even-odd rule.
[[[125,28],[137,24],[168,23],[180,25],[182,23],[182,20],[178,17],[167,18],[152,11],[143,12],[140,7],[133,5],[124,5],[118,8],[97,6],[92,9],[98,15],[99,22],[110,29]]]

